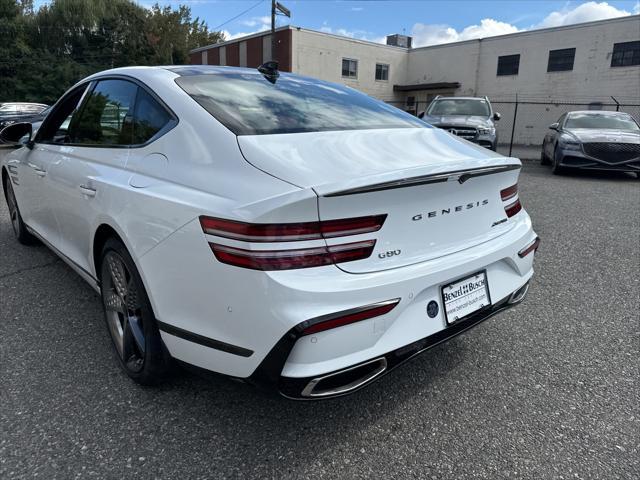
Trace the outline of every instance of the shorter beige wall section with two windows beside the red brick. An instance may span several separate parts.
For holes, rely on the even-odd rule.
[[[358,60],[358,78],[342,77],[342,59]],[[389,79],[375,79],[376,63],[389,65]],[[293,29],[293,71],[356,88],[382,100],[404,95],[393,92],[394,84],[404,83],[407,50],[335,35]]]

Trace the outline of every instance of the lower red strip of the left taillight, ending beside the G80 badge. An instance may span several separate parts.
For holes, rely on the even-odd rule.
[[[289,250],[245,250],[217,243],[209,245],[218,261],[222,263],[253,270],[290,270],[369,258],[375,244],[375,240],[365,240],[329,247]]]

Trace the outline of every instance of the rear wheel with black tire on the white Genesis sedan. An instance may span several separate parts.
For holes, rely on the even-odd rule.
[[[106,241],[100,258],[104,318],[120,366],[141,385],[162,383],[172,361],[135,263],[115,238]]]

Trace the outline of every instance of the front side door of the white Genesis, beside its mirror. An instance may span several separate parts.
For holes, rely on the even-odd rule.
[[[59,144],[66,139],[65,120],[77,112],[87,85],[74,89],[57,104],[46,124],[35,136],[18,166],[18,204],[24,222],[46,242],[58,248],[60,229],[52,210],[53,191],[49,173],[60,162]]]

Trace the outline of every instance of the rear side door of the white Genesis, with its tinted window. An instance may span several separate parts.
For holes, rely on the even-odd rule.
[[[132,113],[138,86],[124,79],[98,80],[69,124],[69,142],[59,145],[49,180],[60,225],[59,250],[91,272],[91,241],[109,216],[110,195],[124,188],[132,143]]]

